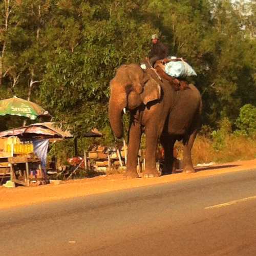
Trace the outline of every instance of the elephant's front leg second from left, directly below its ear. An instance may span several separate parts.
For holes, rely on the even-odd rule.
[[[158,143],[158,133],[155,126],[146,126],[146,153],[145,153],[145,170],[144,178],[158,177],[160,174],[156,168],[156,151]]]

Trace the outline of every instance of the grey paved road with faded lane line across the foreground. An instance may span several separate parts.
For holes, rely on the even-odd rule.
[[[254,256],[255,216],[256,169],[1,210],[0,255]]]

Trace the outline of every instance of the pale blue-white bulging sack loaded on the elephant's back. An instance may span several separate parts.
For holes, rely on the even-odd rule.
[[[197,75],[195,70],[185,61],[170,61],[165,65],[164,71],[169,76],[177,78]]]

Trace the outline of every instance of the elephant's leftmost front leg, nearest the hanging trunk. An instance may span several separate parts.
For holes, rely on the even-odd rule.
[[[132,122],[129,130],[126,174],[127,178],[138,178],[137,157],[140,147],[141,126],[137,122]]]

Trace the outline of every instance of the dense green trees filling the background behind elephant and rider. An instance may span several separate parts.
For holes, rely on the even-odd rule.
[[[240,109],[256,102],[255,14],[254,1],[3,0],[0,99],[31,99],[78,138],[93,127],[111,135],[109,81],[147,56],[158,33],[197,72],[203,123],[239,117],[242,127]],[[1,119],[0,130],[22,124]]]

